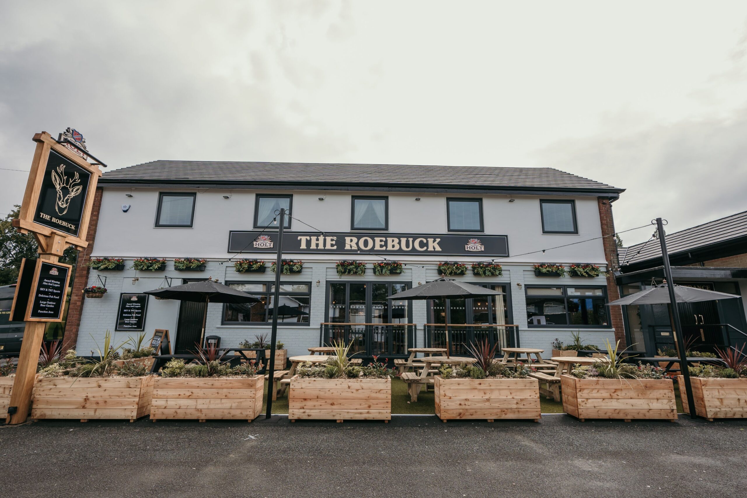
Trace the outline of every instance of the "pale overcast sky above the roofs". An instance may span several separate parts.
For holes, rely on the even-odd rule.
[[[111,167],[557,167],[627,188],[618,230],[747,209],[745,1],[0,0],[0,12],[0,168],[28,170],[34,132],[73,126]],[[24,185],[0,169],[0,213]]]

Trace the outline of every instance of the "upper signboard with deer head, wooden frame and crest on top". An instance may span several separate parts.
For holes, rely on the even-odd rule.
[[[63,138],[64,135],[64,138]],[[67,136],[69,135],[69,137]],[[87,247],[85,240],[90,212],[93,208],[93,191],[101,176],[96,165],[87,162],[70,144],[84,150],[85,139],[75,131],[61,134],[55,141],[47,132],[34,135],[37,150],[21,205],[21,212],[13,226],[22,233],[34,232],[39,236],[57,234],[69,245]],[[100,163],[96,163],[100,164]],[[44,248],[52,253],[51,248]],[[55,250],[61,254],[64,248]]]

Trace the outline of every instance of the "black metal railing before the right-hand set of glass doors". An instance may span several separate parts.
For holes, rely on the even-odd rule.
[[[468,345],[488,339],[491,346],[498,345],[496,355],[503,354],[503,348],[520,347],[518,325],[463,325],[437,324],[425,325],[425,342],[427,348],[445,348],[447,331],[450,331],[450,354],[467,356]]]

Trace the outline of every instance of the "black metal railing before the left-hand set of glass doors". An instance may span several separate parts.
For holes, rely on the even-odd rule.
[[[356,357],[408,357],[415,348],[417,325],[413,323],[330,323],[319,326],[322,345],[334,342],[350,344]]]

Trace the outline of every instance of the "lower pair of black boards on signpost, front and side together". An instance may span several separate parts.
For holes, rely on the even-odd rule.
[[[17,322],[62,322],[71,265],[27,259],[21,262],[10,319]]]

